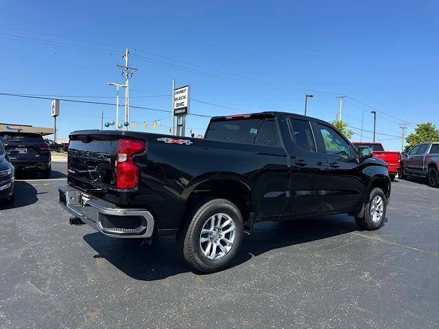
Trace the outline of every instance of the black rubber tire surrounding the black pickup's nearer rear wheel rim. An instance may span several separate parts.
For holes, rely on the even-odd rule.
[[[235,223],[235,240],[230,250],[228,250],[224,256],[217,260],[211,260],[204,256],[202,252],[200,236],[202,228],[207,221],[209,221],[213,215],[218,213],[224,213],[233,219],[233,222]],[[212,273],[219,271],[226,267],[237,253],[239,246],[241,245],[243,232],[244,222],[241,217],[241,212],[239,212],[239,209],[235,204],[226,199],[211,199],[208,202],[205,202],[205,200],[200,201],[198,204],[194,204],[187,212],[185,223],[182,228],[178,230],[178,252],[180,252],[180,255],[185,259],[189,266],[200,272]],[[225,235],[226,234],[224,234],[224,236]]]

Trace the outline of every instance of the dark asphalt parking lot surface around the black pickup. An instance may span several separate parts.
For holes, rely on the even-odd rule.
[[[439,189],[392,184],[384,226],[348,216],[258,223],[230,268],[194,273],[174,237],[150,249],[70,226],[49,180],[0,206],[0,328],[438,328]]]

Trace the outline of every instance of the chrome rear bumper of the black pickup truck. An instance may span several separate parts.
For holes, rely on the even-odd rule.
[[[58,192],[63,208],[106,236],[149,238],[154,232],[154,217],[146,209],[117,208],[71,186],[61,186]]]

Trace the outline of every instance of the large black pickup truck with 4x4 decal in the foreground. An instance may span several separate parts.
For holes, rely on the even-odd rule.
[[[347,212],[385,217],[390,178],[368,147],[327,122],[283,112],[213,117],[205,138],[128,131],[70,134],[60,204],[106,236],[176,234],[189,265],[225,267],[258,221]]]

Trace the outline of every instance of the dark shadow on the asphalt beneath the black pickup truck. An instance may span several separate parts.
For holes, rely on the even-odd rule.
[[[323,240],[357,230],[359,228],[354,219],[345,215],[256,223],[250,235],[244,234],[241,249],[226,269],[246,263],[250,258],[274,249]],[[84,241],[97,252],[95,258],[106,258],[117,269],[136,280],[161,280],[189,271],[200,274],[186,265],[178,255],[175,236],[158,236],[149,248],[141,247],[140,241],[136,240],[112,239],[98,232],[84,236]]]

